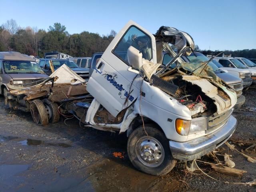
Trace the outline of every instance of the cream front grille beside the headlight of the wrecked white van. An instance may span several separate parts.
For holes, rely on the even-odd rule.
[[[217,128],[220,128],[222,125],[224,125],[229,117],[231,116],[233,112],[233,108],[228,110],[227,112],[220,114],[220,115],[212,115],[207,118],[207,128],[206,128],[206,133],[212,132]]]

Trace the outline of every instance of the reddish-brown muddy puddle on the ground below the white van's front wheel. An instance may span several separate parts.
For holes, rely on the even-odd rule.
[[[85,168],[85,178],[80,183],[84,191],[177,191],[184,185],[175,181],[162,182],[161,177],[144,174],[135,170],[129,161],[109,158],[102,159]]]

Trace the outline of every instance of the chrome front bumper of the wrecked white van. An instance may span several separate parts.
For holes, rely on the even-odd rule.
[[[173,158],[190,161],[208,154],[232,136],[236,123],[236,118],[231,115],[226,124],[206,136],[187,142],[169,141]]]

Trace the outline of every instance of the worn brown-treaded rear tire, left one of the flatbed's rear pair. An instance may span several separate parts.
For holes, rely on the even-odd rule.
[[[46,108],[41,100],[33,100],[30,103],[30,112],[36,124],[42,126],[48,124],[48,115],[46,112]]]

